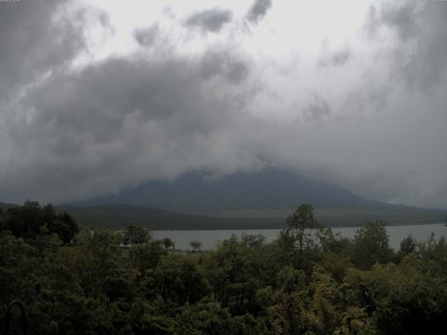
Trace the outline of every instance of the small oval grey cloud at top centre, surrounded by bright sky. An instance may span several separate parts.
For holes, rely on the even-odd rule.
[[[198,27],[203,31],[217,33],[223,24],[230,22],[233,17],[231,10],[212,8],[191,15],[185,22],[186,27]]]

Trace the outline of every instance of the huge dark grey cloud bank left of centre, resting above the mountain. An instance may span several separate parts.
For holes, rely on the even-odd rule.
[[[29,91],[16,106],[22,117],[8,124],[10,145],[27,161],[10,156],[9,180],[27,190],[22,197],[71,200],[191,169],[219,173],[261,164],[231,135],[246,98],[227,89],[240,80],[231,67],[247,66],[227,59],[203,75],[212,58],[118,58],[78,74],[54,73]],[[0,197],[13,189],[8,180],[3,186]]]

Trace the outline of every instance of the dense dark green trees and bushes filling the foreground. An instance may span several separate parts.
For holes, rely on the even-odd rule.
[[[67,218],[24,207],[0,214],[0,313],[20,299],[29,334],[444,334],[447,327],[444,238],[408,237],[395,252],[382,223],[347,239],[317,225],[312,206],[302,204],[272,243],[233,235],[215,251],[182,253],[137,226],[82,230],[68,241],[64,229],[51,228],[69,226]],[[136,239],[124,246],[129,237]]]

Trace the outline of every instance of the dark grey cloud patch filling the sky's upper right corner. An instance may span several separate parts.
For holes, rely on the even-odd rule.
[[[442,1],[386,1],[369,10],[371,36],[383,27],[395,32],[393,68],[395,80],[410,89],[430,91],[447,68],[447,6]]]

